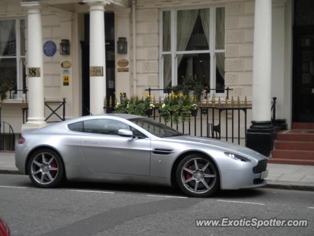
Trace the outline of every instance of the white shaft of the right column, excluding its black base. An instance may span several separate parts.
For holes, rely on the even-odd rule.
[[[271,0],[255,1],[252,107],[254,121],[271,120],[271,15]]]

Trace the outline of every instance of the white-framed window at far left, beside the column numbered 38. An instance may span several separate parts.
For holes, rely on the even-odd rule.
[[[25,89],[25,51],[25,20],[0,20],[0,86],[14,90],[11,98]]]

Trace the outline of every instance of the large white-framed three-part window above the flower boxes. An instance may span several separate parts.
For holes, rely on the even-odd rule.
[[[161,88],[197,78],[224,92],[225,8],[172,8],[161,11]]]

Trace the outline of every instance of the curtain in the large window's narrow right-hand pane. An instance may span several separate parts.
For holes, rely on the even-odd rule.
[[[216,9],[216,49],[225,48],[225,8]],[[225,78],[224,54],[216,54],[216,68],[222,78]]]

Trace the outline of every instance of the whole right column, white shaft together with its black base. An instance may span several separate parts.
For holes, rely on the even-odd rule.
[[[271,0],[255,1],[252,125],[246,146],[269,156],[275,134],[271,122]]]

